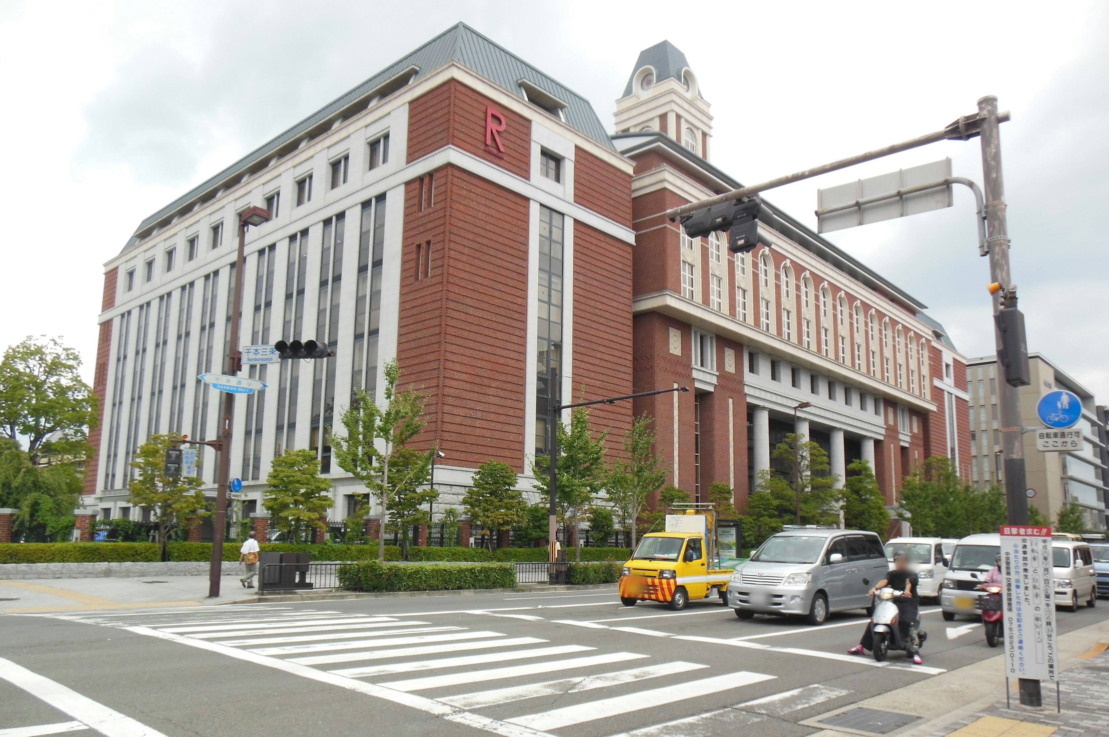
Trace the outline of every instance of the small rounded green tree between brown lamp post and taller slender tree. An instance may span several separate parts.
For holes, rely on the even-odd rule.
[[[327,529],[323,518],[334,503],[332,482],[319,475],[315,451],[286,450],[274,458],[266,483],[269,489],[262,505],[289,542],[301,542],[305,532]]]

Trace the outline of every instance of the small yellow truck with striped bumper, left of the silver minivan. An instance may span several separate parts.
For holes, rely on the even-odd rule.
[[[665,532],[640,540],[620,576],[620,602],[661,602],[682,610],[691,598],[728,601],[730,569],[714,567],[716,514],[712,504],[676,504],[667,510]]]

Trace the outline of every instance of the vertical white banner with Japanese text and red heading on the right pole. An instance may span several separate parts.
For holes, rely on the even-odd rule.
[[[1005,675],[1055,680],[1051,528],[1001,525]]]

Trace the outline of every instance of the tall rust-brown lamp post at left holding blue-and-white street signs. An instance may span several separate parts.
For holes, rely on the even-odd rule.
[[[242,370],[242,351],[238,350],[238,321],[243,306],[243,264],[246,250],[246,228],[262,225],[269,219],[264,207],[247,207],[238,215],[238,253],[235,256],[235,291],[231,301],[231,327],[227,330],[226,372],[234,376]],[[235,417],[235,395],[223,395],[223,424],[220,426],[220,474],[216,480],[215,519],[212,521],[212,564],[208,567],[208,596],[220,595],[220,575],[223,569],[223,535],[227,520],[227,479],[231,477],[231,424]]]

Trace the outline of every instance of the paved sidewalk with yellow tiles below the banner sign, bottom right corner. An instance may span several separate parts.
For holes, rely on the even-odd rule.
[[[801,724],[822,728],[812,737],[1109,737],[1109,620],[1058,642],[1061,714],[1055,710],[1055,686],[1047,682],[1042,712],[1017,707],[1016,682],[1010,684],[1014,708],[1006,708],[999,655]],[[861,728],[864,724],[869,728]]]

